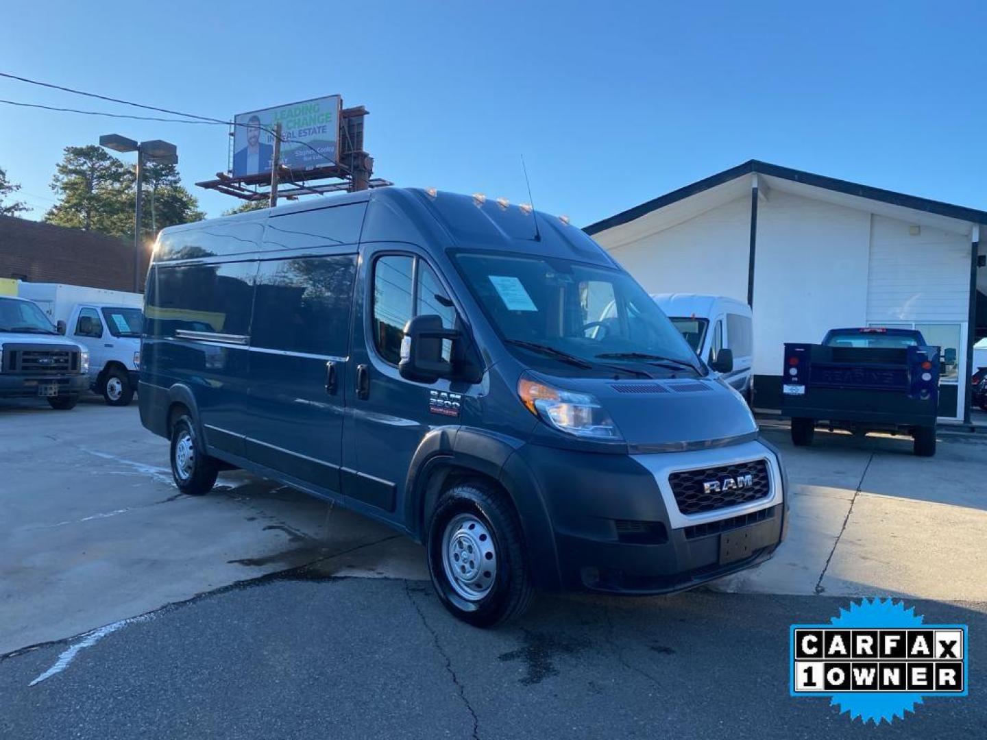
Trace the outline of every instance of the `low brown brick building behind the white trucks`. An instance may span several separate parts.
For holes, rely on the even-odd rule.
[[[0,216],[0,277],[133,290],[133,259],[133,244],[114,237]]]

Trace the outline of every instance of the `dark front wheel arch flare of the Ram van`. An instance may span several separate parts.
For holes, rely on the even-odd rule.
[[[557,590],[562,578],[555,534],[537,479],[514,454],[523,445],[517,438],[472,427],[431,430],[418,445],[409,469],[406,521],[412,536],[424,542],[427,522],[450,474],[472,472],[496,481],[518,513],[535,585]]]

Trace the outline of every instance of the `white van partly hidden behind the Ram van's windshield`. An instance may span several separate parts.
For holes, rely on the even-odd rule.
[[[722,348],[733,352],[733,370],[723,377],[749,398],[754,361],[750,306],[733,298],[700,293],[654,293],[654,302],[707,363]]]

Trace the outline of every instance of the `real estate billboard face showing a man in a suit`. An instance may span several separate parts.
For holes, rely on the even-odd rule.
[[[312,170],[337,164],[340,144],[338,95],[287,106],[249,111],[234,117],[233,177],[270,172],[274,125],[281,124],[281,164]]]

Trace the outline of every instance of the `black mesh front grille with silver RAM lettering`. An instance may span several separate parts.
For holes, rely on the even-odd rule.
[[[749,485],[747,476],[750,476]],[[756,501],[771,492],[768,464],[764,460],[672,473],[668,484],[683,514],[716,511]]]

